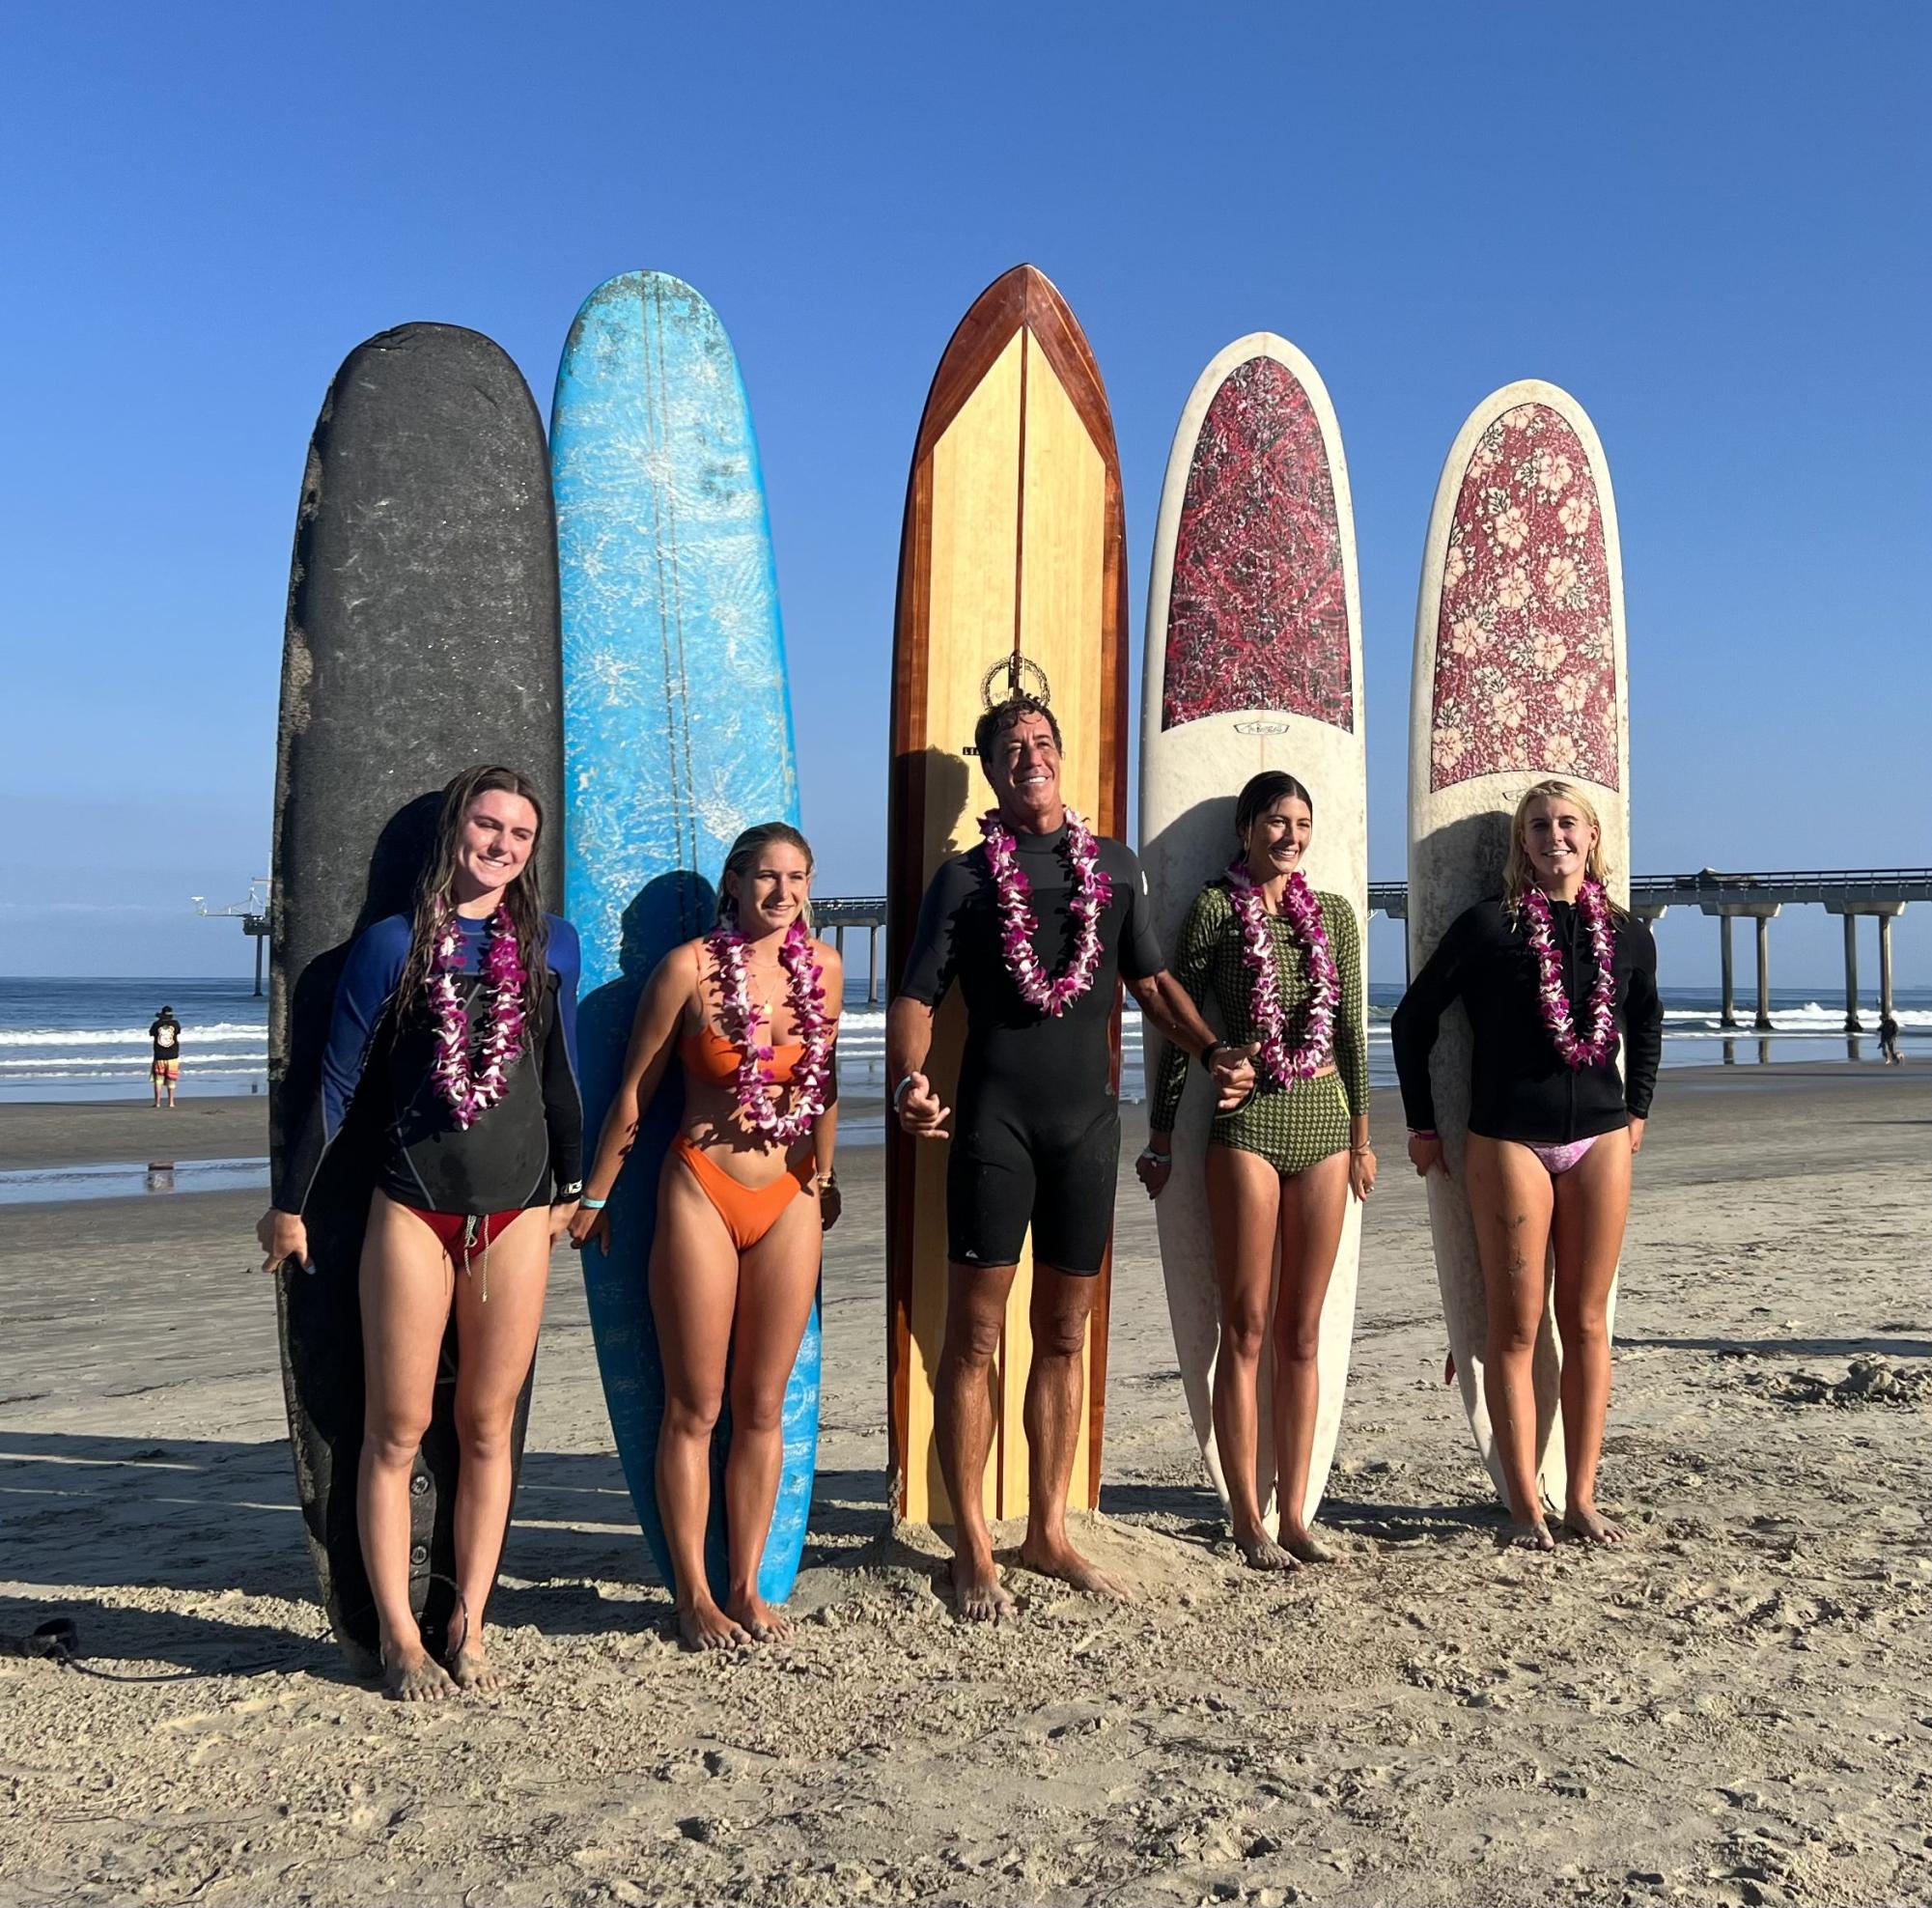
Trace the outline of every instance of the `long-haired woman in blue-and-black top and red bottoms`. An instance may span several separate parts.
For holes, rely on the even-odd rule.
[[[301,1211],[323,1153],[350,1101],[373,1097],[355,1510],[384,1682],[410,1701],[497,1684],[483,1607],[510,1518],[510,1425],[537,1352],[551,1246],[583,1190],[578,937],[543,912],[531,867],[541,830],[537,792],[510,769],[469,769],[444,790],[415,915],[377,921],[350,948],[319,1105],[299,1122],[257,1228],[267,1269],[307,1259]],[[468,1620],[440,1665],[410,1613],[410,1472],[452,1304],[456,1580]]]

